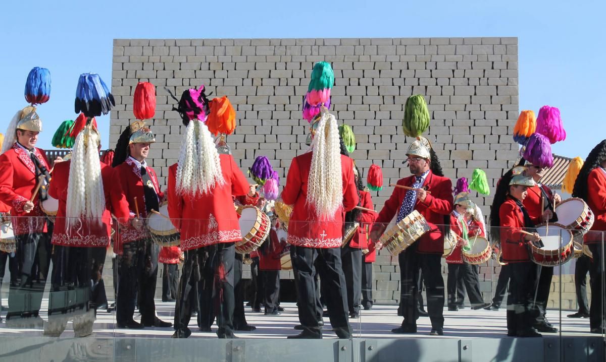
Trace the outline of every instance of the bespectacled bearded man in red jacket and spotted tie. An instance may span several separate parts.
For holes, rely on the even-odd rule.
[[[444,278],[441,258],[444,253],[444,233],[448,232],[453,208],[452,183],[444,177],[436,154],[425,137],[419,137],[408,148],[408,168],[413,176],[398,180],[398,185],[413,190],[395,188],[375,221],[370,238],[379,240],[393,216],[396,222],[413,210],[419,211],[430,226],[419,240],[398,255],[401,275],[401,303],[404,320],[394,333],[416,333],[417,280],[422,270],[427,288],[427,311],[431,320],[430,335],[444,334]]]

